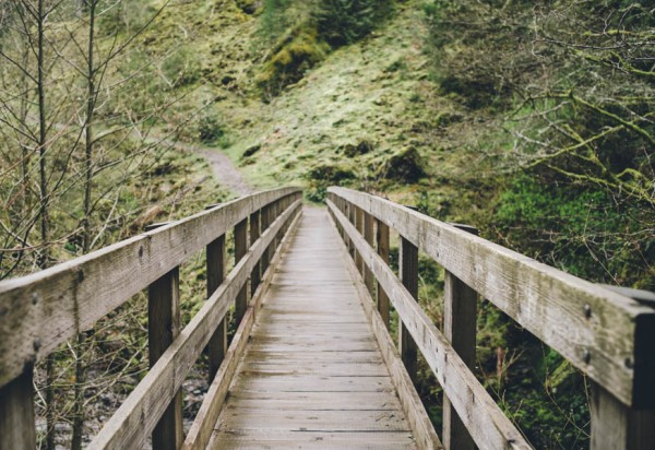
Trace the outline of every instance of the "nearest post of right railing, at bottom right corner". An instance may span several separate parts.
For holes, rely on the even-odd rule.
[[[655,306],[655,294],[646,291],[627,289],[616,286],[604,286],[631,297],[644,305]],[[588,318],[594,311],[590,310]],[[651,322],[655,320],[651,319]],[[641,334],[641,335],[640,335]],[[635,336],[635,346],[642,346],[641,356],[644,360],[630,362],[633,370],[648,369],[655,362],[655,330],[653,323],[645,324]],[[593,355],[591,356],[593,357]],[[628,364],[628,363],[626,363]],[[655,380],[647,380],[651,384]],[[592,450],[646,450],[655,443],[655,408],[645,407],[635,410],[621,403],[600,384],[591,381],[592,401],[590,413],[592,416]]]

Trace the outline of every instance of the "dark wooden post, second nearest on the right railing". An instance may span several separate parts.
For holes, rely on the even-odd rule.
[[[475,227],[453,225],[467,233],[478,234]],[[474,370],[478,295],[460,279],[445,271],[443,296],[443,334],[464,364]],[[445,395],[443,396],[442,440],[445,449],[475,449],[471,434]]]

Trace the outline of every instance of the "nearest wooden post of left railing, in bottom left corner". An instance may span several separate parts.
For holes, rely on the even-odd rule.
[[[0,449],[35,449],[33,369],[0,388]]]

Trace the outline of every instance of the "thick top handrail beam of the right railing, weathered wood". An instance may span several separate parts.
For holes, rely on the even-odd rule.
[[[652,309],[388,200],[343,188],[329,192],[397,229],[624,404],[655,405],[655,359],[636,354],[648,345],[638,336]]]

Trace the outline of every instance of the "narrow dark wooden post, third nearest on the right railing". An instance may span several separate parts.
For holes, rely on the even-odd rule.
[[[403,236],[401,236],[400,265],[403,286],[418,300],[418,247]],[[398,351],[409,378],[416,382],[418,357],[416,343],[401,320],[398,320]]]

